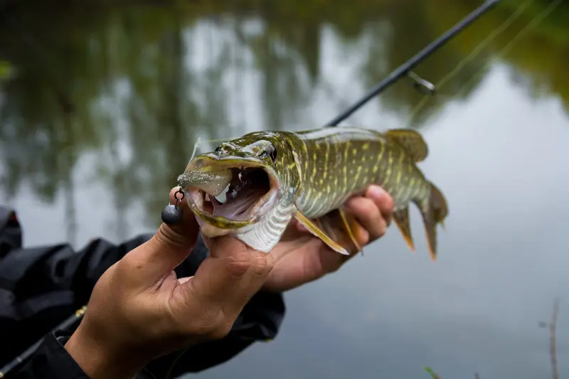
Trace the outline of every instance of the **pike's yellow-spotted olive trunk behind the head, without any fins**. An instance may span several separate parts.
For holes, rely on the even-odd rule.
[[[296,137],[303,183],[296,205],[307,218],[339,208],[371,183],[390,193],[394,210],[428,199],[430,183],[405,148],[385,134],[336,127]]]

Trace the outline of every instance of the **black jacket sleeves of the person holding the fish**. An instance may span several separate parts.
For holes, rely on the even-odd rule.
[[[21,227],[14,211],[0,206],[0,368],[46,336],[29,359],[6,378],[87,378],[63,345],[76,323],[52,331],[87,304],[97,279],[129,250],[151,235],[114,245],[90,241],[75,252],[68,244],[21,246]],[[191,276],[208,255],[202,240],[176,273]],[[285,315],[281,294],[259,292],[249,301],[228,336],[152,361],[140,378],[174,378],[232,358],[255,341],[275,338]],[[1,378],[0,373],[0,378]]]

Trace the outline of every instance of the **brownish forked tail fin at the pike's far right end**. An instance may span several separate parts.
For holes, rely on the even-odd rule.
[[[442,192],[433,183],[430,183],[430,196],[427,201],[418,203],[421,210],[425,233],[427,234],[427,244],[432,260],[437,260],[437,225],[442,225],[449,210],[447,201]]]

